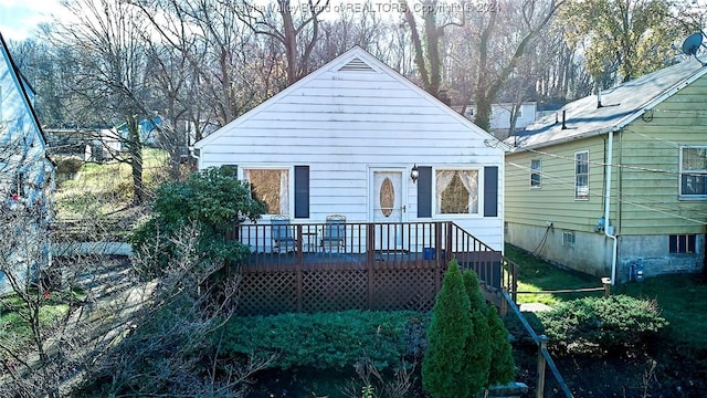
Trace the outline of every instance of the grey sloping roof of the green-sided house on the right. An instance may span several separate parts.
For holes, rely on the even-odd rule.
[[[564,105],[556,114],[530,124],[506,138],[514,150],[537,148],[615,132],[646,111],[669,98],[707,73],[700,62],[689,59],[613,88]],[[601,107],[599,105],[601,98]],[[562,114],[564,125],[562,128]]]

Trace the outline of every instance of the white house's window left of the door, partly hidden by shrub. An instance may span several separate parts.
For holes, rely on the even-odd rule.
[[[289,214],[289,170],[246,169],[253,198],[267,205],[268,214]]]

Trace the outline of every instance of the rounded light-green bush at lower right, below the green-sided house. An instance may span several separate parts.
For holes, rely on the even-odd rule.
[[[572,353],[625,352],[668,324],[655,301],[626,295],[573,300],[538,316],[552,346]]]

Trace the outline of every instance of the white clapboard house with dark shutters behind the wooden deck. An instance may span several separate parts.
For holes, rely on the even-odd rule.
[[[194,144],[200,169],[251,182],[264,221],[454,221],[498,251],[506,149],[360,48]]]

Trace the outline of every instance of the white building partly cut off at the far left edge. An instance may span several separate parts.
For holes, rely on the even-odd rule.
[[[32,107],[34,94],[0,34],[0,293],[51,262],[46,203],[54,166]]]

